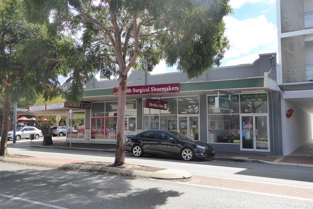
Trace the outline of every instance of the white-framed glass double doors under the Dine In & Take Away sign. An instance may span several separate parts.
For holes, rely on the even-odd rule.
[[[267,115],[241,116],[241,149],[269,151]]]

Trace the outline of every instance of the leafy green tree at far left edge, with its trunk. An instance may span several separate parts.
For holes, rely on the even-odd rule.
[[[37,93],[45,98],[60,92],[55,60],[74,42],[48,32],[44,24],[28,23],[22,0],[0,0],[0,89],[3,102],[0,155],[7,154],[11,101],[25,102]],[[64,72],[65,73],[65,72]]]

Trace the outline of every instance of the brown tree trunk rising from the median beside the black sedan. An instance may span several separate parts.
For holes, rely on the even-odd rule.
[[[118,104],[117,104],[117,136],[115,166],[120,166],[125,162],[125,105],[126,105],[127,75],[120,72],[118,86]]]

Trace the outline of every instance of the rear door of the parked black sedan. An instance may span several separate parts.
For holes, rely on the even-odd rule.
[[[156,153],[157,131],[146,131],[139,135],[145,153]]]

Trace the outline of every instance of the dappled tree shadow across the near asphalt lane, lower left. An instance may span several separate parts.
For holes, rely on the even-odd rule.
[[[166,204],[168,198],[182,194],[157,187],[145,188],[136,185],[139,181],[133,181],[131,177],[96,172],[43,170],[29,166],[2,170],[0,176],[2,194],[66,208],[157,208]],[[11,201],[0,202],[1,208],[12,206],[9,205]]]

